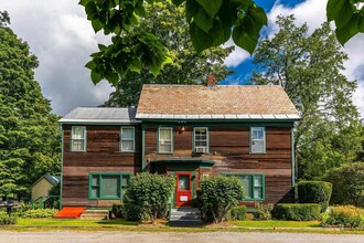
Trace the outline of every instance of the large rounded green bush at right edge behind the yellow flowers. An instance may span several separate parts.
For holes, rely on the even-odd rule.
[[[333,186],[331,204],[364,207],[364,162],[332,169],[328,171],[324,180]]]

